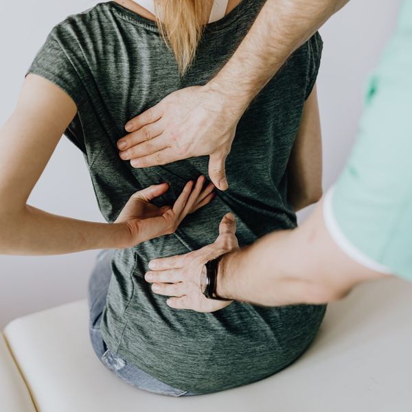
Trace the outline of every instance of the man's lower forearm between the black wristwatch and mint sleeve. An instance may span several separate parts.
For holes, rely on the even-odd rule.
[[[323,222],[321,203],[298,229],[271,233],[220,261],[219,296],[264,306],[321,304],[380,277],[350,259]]]

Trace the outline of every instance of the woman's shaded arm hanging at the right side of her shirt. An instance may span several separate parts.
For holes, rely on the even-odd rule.
[[[322,137],[316,85],[304,113],[288,164],[288,200],[295,211],[322,196]]]

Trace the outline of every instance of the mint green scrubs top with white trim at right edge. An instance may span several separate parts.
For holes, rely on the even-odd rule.
[[[412,0],[371,76],[358,139],[324,213],[352,258],[412,281]]]

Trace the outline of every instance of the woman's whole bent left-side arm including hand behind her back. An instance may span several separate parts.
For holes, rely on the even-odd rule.
[[[210,187],[202,190],[204,178],[199,178],[196,186],[187,183],[173,208],[157,209],[149,203],[168,190],[167,185],[133,194],[119,216],[121,222],[113,224],[56,216],[27,205],[76,112],[73,100],[54,83],[34,74],[25,78],[17,106],[0,129],[0,254],[54,255],[132,247],[172,233],[187,213],[211,200]]]

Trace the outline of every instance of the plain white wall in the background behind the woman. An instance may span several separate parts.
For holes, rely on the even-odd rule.
[[[90,0],[0,0],[0,124],[12,112],[25,70],[52,26],[92,4]],[[325,189],[350,152],[365,79],[393,29],[398,5],[398,0],[352,0],[321,30],[325,45],[318,88]],[[54,214],[104,221],[82,155],[67,139],[58,144],[29,203]],[[0,328],[23,314],[86,297],[95,253],[0,256]]]

